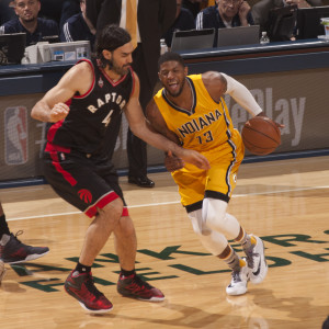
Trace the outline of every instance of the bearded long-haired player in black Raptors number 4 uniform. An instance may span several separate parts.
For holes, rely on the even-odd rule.
[[[135,228],[111,163],[122,113],[133,133],[148,144],[200,168],[209,167],[197,151],[185,150],[148,128],[138,102],[138,77],[131,68],[129,34],[106,26],[97,38],[95,53],[95,58],[73,66],[35,104],[32,117],[50,123],[44,151],[47,181],[64,200],[94,217],[65,290],[87,310],[106,313],[112,303],[94,286],[91,266],[111,232],[121,264],[118,293],[143,300],[164,298],[135,273]]]

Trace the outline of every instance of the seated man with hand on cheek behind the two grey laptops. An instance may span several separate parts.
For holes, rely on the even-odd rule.
[[[196,15],[196,30],[215,29],[214,46],[217,45],[217,30],[253,25],[250,5],[243,0],[219,0]]]

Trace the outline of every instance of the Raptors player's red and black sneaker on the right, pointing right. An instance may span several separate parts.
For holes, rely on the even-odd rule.
[[[164,295],[160,290],[143,281],[136,274],[129,276],[120,275],[116,288],[123,296],[139,300],[161,302],[164,299]]]

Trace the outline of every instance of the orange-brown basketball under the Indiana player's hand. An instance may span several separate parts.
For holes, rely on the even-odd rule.
[[[281,144],[279,127],[266,116],[254,116],[247,121],[241,136],[246,148],[257,156],[269,155]]]

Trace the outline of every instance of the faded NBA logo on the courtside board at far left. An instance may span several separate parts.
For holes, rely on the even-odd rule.
[[[27,109],[7,107],[4,112],[5,163],[22,164],[27,161]]]

